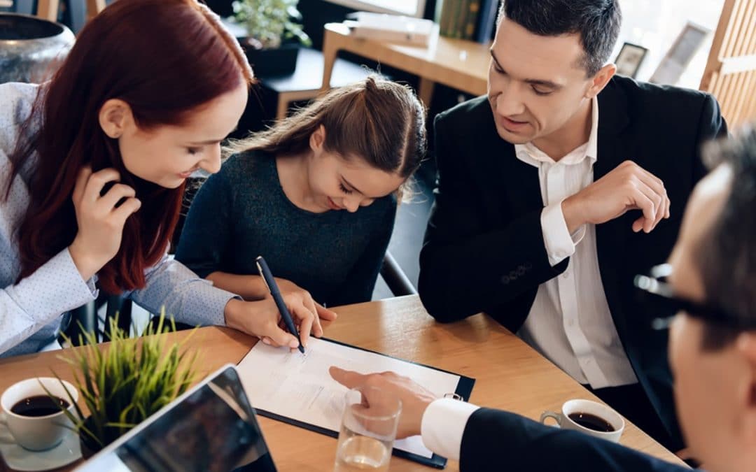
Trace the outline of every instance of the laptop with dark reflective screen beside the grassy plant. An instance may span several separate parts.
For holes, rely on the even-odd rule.
[[[275,472],[235,366],[209,375],[76,468],[80,472]]]

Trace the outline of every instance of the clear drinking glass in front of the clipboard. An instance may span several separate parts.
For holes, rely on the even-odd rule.
[[[368,391],[370,390],[370,391]],[[367,393],[367,395],[366,395]],[[370,408],[364,398],[370,398]],[[334,472],[389,470],[401,400],[376,387],[346,393]]]

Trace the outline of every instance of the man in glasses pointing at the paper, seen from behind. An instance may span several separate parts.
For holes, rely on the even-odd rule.
[[[674,319],[674,393],[690,452],[711,472],[745,472],[756,470],[756,130],[720,146],[714,154],[725,162],[696,187],[669,264],[655,270],[668,282],[640,277],[638,285],[648,291],[649,312]],[[332,367],[331,375],[350,388],[378,387],[365,390],[382,392],[367,394],[368,407],[385,393],[399,396],[398,437],[422,434],[429,449],[458,458],[463,471],[689,470],[514,413],[436,400],[391,372]]]

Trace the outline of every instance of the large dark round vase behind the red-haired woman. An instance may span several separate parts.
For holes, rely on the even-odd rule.
[[[0,84],[50,79],[75,41],[66,26],[29,15],[0,13]]]

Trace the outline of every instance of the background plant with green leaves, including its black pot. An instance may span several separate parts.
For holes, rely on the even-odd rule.
[[[239,42],[256,75],[277,76],[294,72],[299,45],[311,45],[302,29],[299,0],[236,0],[231,20],[246,35]]]

